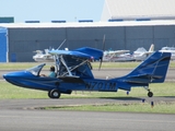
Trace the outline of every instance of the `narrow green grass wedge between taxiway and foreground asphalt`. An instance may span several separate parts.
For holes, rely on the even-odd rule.
[[[77,105],[77,106],[55,106],[44,109],[55,110],[80,110],[80,111],[122,111],[122,112],[156,112],[156,114],[175,114],[175,103],[117,103],[104,105]]]

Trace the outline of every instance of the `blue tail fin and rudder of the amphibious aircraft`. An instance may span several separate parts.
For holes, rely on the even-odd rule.
[[[164,82],[171,60],[170,52],[152,53],[145,61],[138,66],[127,76],[131,83],[161,83]]]

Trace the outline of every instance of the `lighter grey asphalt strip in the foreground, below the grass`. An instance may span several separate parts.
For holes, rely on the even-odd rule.
[[[174,115],[1,110],[1,131],[174,131]]]

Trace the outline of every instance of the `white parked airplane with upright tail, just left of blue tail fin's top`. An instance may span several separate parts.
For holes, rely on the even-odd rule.
[[[154,52],[154,45],[153,44],[150,46],[149,51],[147,51],[143,47],[138,48],[136,51],[133,51],[132,57],[136,61],[143,61],[152,52]]]

